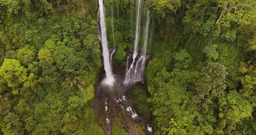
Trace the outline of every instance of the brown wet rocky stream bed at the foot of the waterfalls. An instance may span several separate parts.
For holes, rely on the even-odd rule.
[[[152,122],[138,115],[135,106],[130,102],[134,86],[122,85],[117,79],[113,87],[108,87],[100,83],[102,79],[103,77],[96,85],[93,109],[95,118],[103,127],[104,133],[111,134],[113,126],[121,125],[126,134],[142,134],[142,130],[145,134],[154,134],[147,130],[148,126],[152,127]]]

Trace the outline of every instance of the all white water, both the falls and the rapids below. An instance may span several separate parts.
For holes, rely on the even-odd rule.
[[[109,52],[108,48],[108,38],[106,35],[106,28],[105,28],[105,15],[104,15],[104,5],[103,5],[103,0],[98,0],[99,1],[99,20],[100,20],[100,30],[99,30],[99,38],[101,41],[101,46],[102,46],[102,54],[103,54],[103,64],[104,64],[104,70],[106,72],[106,77],[102,81],[104,84],[109,84],[113,87],[115,78],[112,73],[112,56],[114,55],[116,49],[115,49],[115,34],[114,34],[114,23],[113,23],[113,8],[111,9],[111,17],[112,17],[112,34],[113,34],[113,45],[114,49],[113,51]],[[146,48],[147,48],[147,38],[148,38],[148,27],[150,24],[150,16],[149,16],[149,11],[147,11],[146,18],[145,18],[145,25],[143,25],[145,28],[144,30],[144,42],[143,42],[143,52],[138,53],[138,46],[139,46],[139,37],[140,37],[140,24],[141,24],[141,10],[142,10],[142,0],[137,0],[137,17],[136,17],[136,31],[135,31],[135,42],[134,42],[134,52],[128,56],[127,58],[127,73],[125,79],[127,79],[128,83],[130,82],[135,82],[135,81],[143,81],[143,72],[144,72],[144,66],[145,66],[145,61],[146,61]],[[137,58],[136,58],[137,57]],[[131,59],[129,62],[129,59]],[[133,60],[133,61],[132,61]],[[132,64],[131,64],[132,63]],[[130,65],[131,64],[131,65]],[[129,66],[130,65],[130,66]],[[142,67],[143,66],[143,67]],[[129,68],[130,67],[130,68]],[[115,82],[116,83],[116,82]],[[133,119],[138,119],[138,121],[142,121],[140,117],[136,114],[136,111],[129,106],[129,103],[126,100],[125,96],[122,96],[118,99],[115,99],[117,103],[119,103],[119,106],[122,108],[122,110],[126,110],[127,114],[131,116]],[[124,105],[124,106],[123,106]],[[126,108],[126,109],[125,109]],[[111,106],[108,106],[107,99],[105,99],[105,105],[104,105],[104,110],[105,114],[109,114],[109,111],[111,111]],[[108,115],[107,115],[108,116]],[[105,134],[111,134],[111,128],[109,129],[108,127],[111,127],[112,120],[108,117],[105,119],[105,123],[108,132],[105,132]],[[152,132],[152,127],[149,127],[148,125],[145,126],[142,122],[143,129],[149,131],[150,133]],[[144,127],[147,127],[144,128]]]

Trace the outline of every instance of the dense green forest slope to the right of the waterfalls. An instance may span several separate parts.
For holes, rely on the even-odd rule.
[[[255,4],[149,3],[161,48],[146,69],[155,134],[256,132]]]

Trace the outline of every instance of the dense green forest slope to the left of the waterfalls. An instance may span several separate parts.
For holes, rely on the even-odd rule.
[[[0,1],[0,129],[103,134],[91,103],[101,67],[97,2]]]

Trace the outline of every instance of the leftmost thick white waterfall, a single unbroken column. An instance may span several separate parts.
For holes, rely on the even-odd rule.
[[[99,20],[100,20],[100,30],[101,30],[100,41],[102,46],[103,64],[104,64],[104,70],[106,72],[104,83],[108,85],[112,85],[115,81],[115,78],[113,76],[111,63],[110,63],[110,52],[108,48],[108,40],[106,35],[103,0],[99,0]]]

